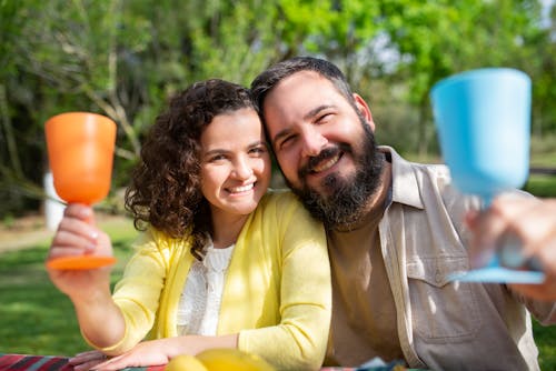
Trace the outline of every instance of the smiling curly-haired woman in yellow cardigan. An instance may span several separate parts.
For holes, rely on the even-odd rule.
[[[330,320],[326,238],[289,192],[268,193],[270,156],[248,90],[198,82],[176,96],[141,150],[126,205],[143,230],[123,278],[49,270],[87,341],[76,370],[167,363],[238,348],[278,369],[318,369]],[[70,204],[48,259],[112,254]],[[141,342],[143,338],[152,339]]]

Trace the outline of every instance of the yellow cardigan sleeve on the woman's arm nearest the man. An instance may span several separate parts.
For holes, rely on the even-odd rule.
[[[326,234],[299,204],[279,227],[281,245],[278,325],[239,333],[238,348],[269,360],[280,370],[318,370],[331,315],[330,268]]]

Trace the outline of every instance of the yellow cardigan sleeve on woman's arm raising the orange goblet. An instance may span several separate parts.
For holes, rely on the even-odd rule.
[[[133,348],[151,330],[165,284],[165,257],[155,234],[146,232],[136,249],[112,294],[126,321],[125,335],[118,343],[100,349],[112,354]]]

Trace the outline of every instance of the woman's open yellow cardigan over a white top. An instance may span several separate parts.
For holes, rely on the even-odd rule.
[[[103,350],[123,352],[147,334],[149,339],[178,335],[179,298],[195,260],[190,241],[151,229],[137,248],[113,293],[126,319],[126,334]],[[240,350],[278,369],[316,370],[325,357],[330,312],[321,224],[290,192],[269,192],[236,242],[217,333],[239,333]]]

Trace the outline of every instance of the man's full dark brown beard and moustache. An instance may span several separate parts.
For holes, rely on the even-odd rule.
[[[367,211],[366,205],[371,195],[380,187],[384,156],[377,150],[375,136],[370,128],[363,121],[361,123],[365,132],[363,146],[359,149],[361,153],[356,156],[354,149],[348,144],[322,150],[318,157],[310,159],[306,168],[299,170],[299,179],[302,182],[300,189],[291,187],[291,183],[286,180],[311,215],[322,221],[327,228],[345,228],[357,222]],[[318,191],[310,189],[305,181],[308,169],[310,169],[311,163],[316,164],[325,159],[330,159],[340,150],[345,153],[351,153],[356,172],[348,178],[342,178],[338,173],[327,176],[320,183],[325,189],[322,192],[325,194],[319,194]]]

